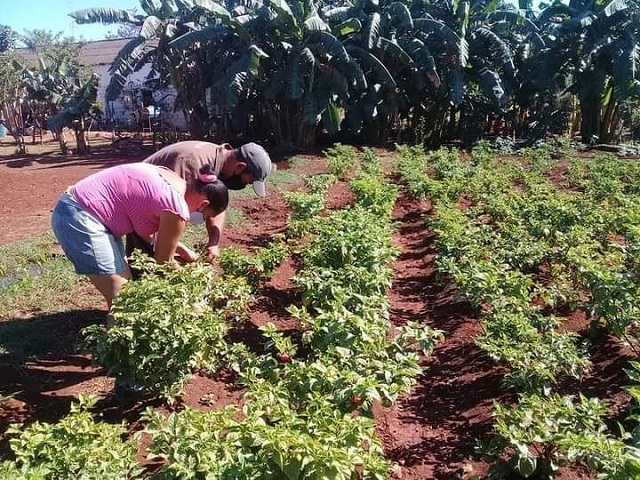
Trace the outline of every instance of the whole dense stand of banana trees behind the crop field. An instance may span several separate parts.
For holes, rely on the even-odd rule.
[[[140,0],[79,24],[139,34],[108,98],[151,64],[195,138],[436,147],[638,137],[635,0]]]

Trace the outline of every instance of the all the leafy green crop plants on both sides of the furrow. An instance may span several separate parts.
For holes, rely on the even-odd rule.
[[[411,390],[443,335],[390,323],[399,186],[387,165],[369,149],[326,153],[330,173],[285,194],[283,235],[251,254],[225,249],[220,276],[138,258],[147,275],[117,299],[115,326],[84,331],[96,360],[148,396],[171,404],[194,371],[224,371],[244,392],[239,405],[148,408],[144,429],[130,435],[131,425],[105,422],[96,399],[82,396],[57,423],[11,427],[14,458],[0,463],[0,478],[387,478],[372,408]],[[579,464],[594,476],[640,478],[640,363],[627,368],[622,425],[612,425],[607,398],[566,389],[591,372],[597,336],[640,353],[640,164],[556,160],[545,148],[504,158],[480,144],[464,156],[399,146],[392,169],[410,196],[431,201],[424,228],[435,233],[438,281],[468,300],[482,325],[474,341],[508,370],[502,388],[513,401],[495,404],[493,434],[478,439],[491,477],[548,478]],[[330,210],[338,180],[355,200]],[[258,342],[233,340],[283,261],[295,267],[287,310],[296,328],[266,323]],[[566,328],[576,312],[584,331]],[[156,467],[143,468],[140,452]]]

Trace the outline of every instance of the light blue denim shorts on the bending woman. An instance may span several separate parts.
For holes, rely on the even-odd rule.
[[[127,268],[122,238],[113,235],[65,192],[51,216],[51,228],[80,275],[109,275]]]

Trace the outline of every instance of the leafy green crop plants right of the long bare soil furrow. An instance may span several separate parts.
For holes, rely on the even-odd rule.
[[[401,147],[398,170],[411,195],[431,200],[440,276],[477,312],[475,341],[508,367],[504,388],[518,394],[495,405],[495,435],[480,445],[506,460],[492,475],[547,478],[580,463],[604,478],[640,478],[638,429],[612,431],[607,399],[559,388],[591,365],[589,335],[561,328],[566,312],[586,312],[592,334],[639,353],[640,164],[560,162],[545,148],[505,161],[481,144],[465,160]],[[637,383],[638,364],[628,374]],[[634,411],[625,423],[635,425]]]

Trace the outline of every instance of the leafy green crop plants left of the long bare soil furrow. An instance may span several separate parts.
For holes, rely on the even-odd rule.
[[[397,187],[370,150],[356,159],[336,146],[327,155],[332,173],[287,194],[285,235],[250,255],[226,249],[219,277],[205,265],[175,270],[138,258],[147,275],[118,297],[115,325],[84,331],[96,360],[149,396],[173,403],[194,370],[225,370],[244,389],[240,405],[149,407],[144,429],[128,435],[130,425],[105,422],[96,399],[83,396],[57,423],[11,427],[15,459],[0,463],[0,478],[387,478],[372,407],[410,391],[442,334],[389,321]],[[327,189],[354,163],[354,204],[328,211]],[[299,327],[266,323],[259,345],[232,341],[285,259],[296,266],[300,302],[288,310]],[[138,463],[143,434],[159,467]]]

